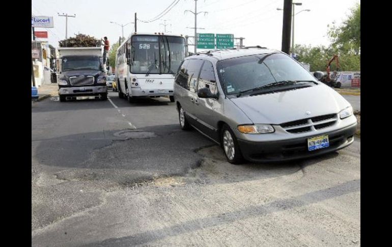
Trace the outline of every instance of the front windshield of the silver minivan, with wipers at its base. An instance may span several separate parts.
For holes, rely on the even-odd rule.
[[[227,95],[240,95],[266,85],[282,86],[315,81],[315,78],[283,53],[258,54],[217,63],[219,81]]]

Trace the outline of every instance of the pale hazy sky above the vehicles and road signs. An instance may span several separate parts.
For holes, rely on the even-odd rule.
[[[68,37],[81,33],[95,38],[107,36],[110,44],[118,42],[122,33],[120,24],[134,22],[137,13],[137,32],[182,34],[193,36],[194,0],[179,0],[176,5],[163,17],[154,19],[167,7],[173,6],[177,0],[32,0],[32,15],[52,16],[54,28],[36,28],[35,31],[48,31],[48,41],[58,47],[59,40],[65,39],[65,17],[58,13],[75,14],[68,18]],[[359,0],[294,0],[302,3],[295,6],[294,42],[305,45],[328,45],[327,25],[341,24],[350,14],[350,8]],[[260,45],[280,50],[282,47],[282,22],[284,0],[198,0],[197,16],[198,33],[234,34],[234,37],[244,37],[244,45]],[[310,11],[301,11],[310,9]],[[299,13],[300,12],[300,13]],[[166,20],[166,21],[164,21]],[[111,21],[118,24],[110,23]],[[124,36],[134,32],[134,24],[124,26]],[[190,40],[192,43],[192,40]],[[189,47],[193,51],[192,47]]]

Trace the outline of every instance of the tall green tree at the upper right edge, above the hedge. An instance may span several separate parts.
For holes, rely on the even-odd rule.
[[[351,8],[351,13],[342,25],[328,25],[328,36],[332,46],[344,53],[360,54],[360,4]]]

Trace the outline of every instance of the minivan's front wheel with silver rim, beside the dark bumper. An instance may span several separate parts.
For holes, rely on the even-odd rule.
[[[233,130],[228,125],[224,125],[221,136],[221,143],[227,160],[232,164],[242,163],[242,153]]]

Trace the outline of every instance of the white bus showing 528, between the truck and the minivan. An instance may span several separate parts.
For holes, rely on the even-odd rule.
[[[169,96],[174,102],[174,77],[187,47],[182,35],[133,33],[117,49],[116,81],[119,97]]]

